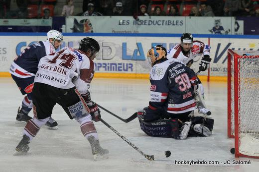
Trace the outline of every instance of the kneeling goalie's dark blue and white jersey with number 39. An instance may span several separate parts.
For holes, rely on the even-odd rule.
[[[195,73],[177,59],[165,58],[150,71],[151,110],[181,114],[196,109],[192,84]]]

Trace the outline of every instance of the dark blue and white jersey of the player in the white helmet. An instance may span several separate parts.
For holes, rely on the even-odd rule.
[[[55,49],[48,41],[32,44],[13,60],[9,72],[21,78],[34,76],[38,70],[40,58],[51,53],[55,53]]]

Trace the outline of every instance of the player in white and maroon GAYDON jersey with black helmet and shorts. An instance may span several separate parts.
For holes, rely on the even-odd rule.
[[[81,40],[78,50],[64,48],[40,59],[32,92],[34,118],[27,122],[23,138],[16,147],[17,152],[29,150],[29,142],[49,120],[57,103],[70,119],[76,119],[81,125],[82,134],[90,142],[95,159],[107,158],[109,151],[100,146],[92,121],[100,120],[100,110],[91,101],[89,92],[94,76],[93,59],[99,50],[98,42],[87,37]]]

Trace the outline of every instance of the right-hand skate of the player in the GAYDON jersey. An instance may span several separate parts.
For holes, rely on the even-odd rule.
[[[108,158],[108,149],[103,149],[100,146],[99,140],[96,140],[94,136],[89,136],[88,141],[92,148],[92,154],[94,155],[94,161],[103,160]]]

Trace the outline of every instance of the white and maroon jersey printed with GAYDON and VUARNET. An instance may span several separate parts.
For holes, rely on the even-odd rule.
[[[76,82],[72,82],[72,78]],[[42,57],[34,82],[40,82],[61,89],[81,88],[85,93],[90,87],[94,76],[94,62],[84,52],[73,48],[63,48],[60,51]],[[80,82],[79,82],[80,80]],[[81,91],[79,90],[81,93]]]

